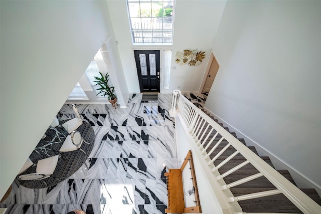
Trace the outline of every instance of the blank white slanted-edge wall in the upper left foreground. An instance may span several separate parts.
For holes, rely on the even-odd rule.
[[[108,36],[105,1],[1,1],[0,198]]]

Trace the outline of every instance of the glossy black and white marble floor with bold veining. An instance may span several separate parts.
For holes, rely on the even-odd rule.
[[[207,94],[185,94],[203,108]],[[77,105],[84,121],[95,131],[94,148],[85,164],[55,186],[29,189],[14,181],[9,197],[0,204],[9,213],[87,214],[165,213],[169,168],[178,168],[175,121],[169,117],[172,94],[141,102],[130,95],[127,108]],[[64,105],[59,120],[74,118]]]

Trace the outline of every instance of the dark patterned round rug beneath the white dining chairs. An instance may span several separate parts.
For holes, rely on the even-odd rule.
[[[60,124],[66,122],[65,121],[59,121]],[[59,138],[62,142],[64,142],[65,137],[68,135],[68,132],[64,130],[64,128],[56,128],[59,132]],[[86,152],[82,152],[81,150],[75,150],[70,152],[59,152],[59,149],[62,145],[62,143],[59,143],[59,140],[57,140],[58,143],[50,145],[50,148],[42,149],[44,145],[44,141],[47,137],[53,136],[53,130],[48,129],[46,132],[46,137],[42,139],[36,149],[32,152],[30,155],[30,159],[37,163],[38,160],[47,158],[49,156],[54,156],[59,154],[59,160],[56,166],[55,171],[53,172],[53,176],[50,176],[43,180],[20,180],[19,183],[27,188],[45,188],[49,186],[53,186],[58,184],[59,182],[67,179],[72,174],[74,174],[85,162],[85,160],[88,158],[95,141],[95,132],[91,125],[87,122],[83,122],[81,126],[79,126],[77,129],[84,138],[84,140],[90,144],[82,143],[81,148]],[[54,134],[57,134],[56,130],[54,130]],[[55,140],[56,141],[56,140]],[[29,167],[26,171],[24,171],[22,174],[29,174],[29,173],[36,173],[36,165]],[[45,181],[45,182],[43,182]]]

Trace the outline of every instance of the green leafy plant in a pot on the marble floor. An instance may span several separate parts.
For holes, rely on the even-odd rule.
[[[100,77],[94,77],[96,80],[94,81],[95,86],[98,85],[100,88],[97,88],[96,90],[99,91],[97,95],[102,94],[104,97],[107,95],[109,102],[112,104],[112,106],[116,109],[117,104],[117,98],[114,94],[114,87],[108,86],[108,80],[109,80],[109,74],[104,76],[101,72],[99,72]]]

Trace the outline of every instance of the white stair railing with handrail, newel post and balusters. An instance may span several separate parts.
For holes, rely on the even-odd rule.
[[[294,184],[292,184],[285,177],[283,177],[278,171],[276,171],[268,163],[262,160],[258,155],[252,152],[247,146],[241,143],[231,133],[226,131],[223,127],[217,124],[203,111],[197,108],[187,98],[182,96],[180,90],[174,90],[173,92],[172,108],[169,113],[171,117],[175,117],[178,113],[180,117],[184,120],[184,123],[189,130],[189,134],[193,136],[197,146],[202,152],[202,155],[208,161],[209,170],[211,170],[213,174],[218,175],[216,176],[216,182],[220,184],[222,191],[233,186],[246,183],[260,176],[266,177],[277,188],[274,190],[245,194],[237,197],[226,196],[225,200],[227,202],[231,203],[234,201],[253,199],[281,193],[284,194],[303,213],[320,213],[320,205],[318,205],[304,192],[302,192]],[[219,140],[217,137],[220,137]],[[215,138],[217,138],[217,142],[214,142]],[[227,141],[228,144],[211,159],[210,155],[215,151],[215,149],[223,140]],[[213,146],[213,148],[209,152],[207,152],[210,146]],[[236,151],[218,165],[214,165],[214,161],[220,155],[222,155],[222,153],[229,146],[233,146],[236,149]],[[224,172],[223,174],[219,174],[218,169],[227,162],[229,162],[238,153],[243,155],[246,160],[243,163]],[[237,180],[228,185],[224,181],[222,182],[222,179],[225,176],[233,173],[234,171],[240,169],[248,163],[251,163],[259,171],[259,173]]]

